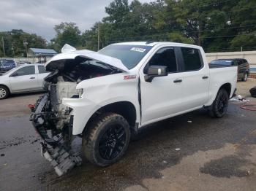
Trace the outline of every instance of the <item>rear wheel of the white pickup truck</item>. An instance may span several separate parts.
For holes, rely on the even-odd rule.
[[[214,100],[214,103],[208,108],[211,117],[221,118],[227,112],[228,94],[225,89],[220,89]]]

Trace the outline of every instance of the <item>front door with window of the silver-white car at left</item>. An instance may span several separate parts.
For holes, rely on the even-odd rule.
[[[24,66],[10,75],[12,92],[37,90],[37,74],[35,66]]]

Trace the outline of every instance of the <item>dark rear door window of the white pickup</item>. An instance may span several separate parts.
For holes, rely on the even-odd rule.
[[[198,70],[203,66],[200,59],[200,50],[181,47],[181,52],[184,59],[184,71]]]

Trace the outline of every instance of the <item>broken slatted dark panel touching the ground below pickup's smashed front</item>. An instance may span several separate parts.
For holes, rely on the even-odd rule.
[[[70,155],[64,147],[57,146],[55,148],[48,147],[46,143],[41,144],[41,155],[46,158],[46,160],[50,161],[51,165],[53,165],[56,174],[62,176],[70,171],[75,166],[81,165],[82,159],[79,156],[79,153],[74,155]]]

